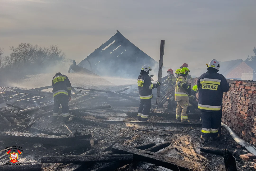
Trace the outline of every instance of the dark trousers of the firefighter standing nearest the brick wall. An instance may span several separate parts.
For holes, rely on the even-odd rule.
[[[202,112],[202,137],[209,139],[218,136],[221,111],[219,112]]]

